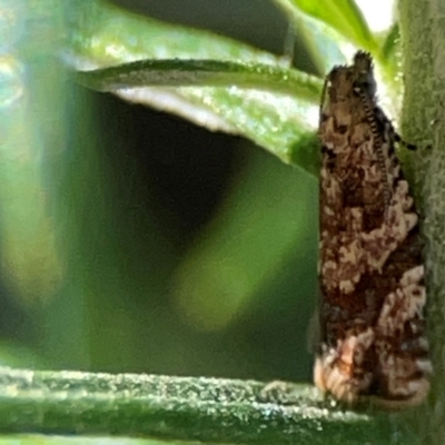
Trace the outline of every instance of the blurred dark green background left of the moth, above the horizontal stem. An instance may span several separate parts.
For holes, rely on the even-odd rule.
[[[284,51],[267,0],[115,3]],[[310,380],[315,178],[73,85],[70,8],[0,0],[1,362]]]

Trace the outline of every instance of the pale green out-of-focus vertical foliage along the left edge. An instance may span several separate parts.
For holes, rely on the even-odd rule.
[[[61,8],[53,7],[60,18]],[[60,48],[61,34],[57,27],[40,34],[40,50],[30,38],[37,11],[32,1],[0,2],[0,274],[3,286],[27,300],[49,297],[62,275],[42,176],[42,160],[63,142],[62,126],[50,123],[60,107],[62,69],[47,57]]]

